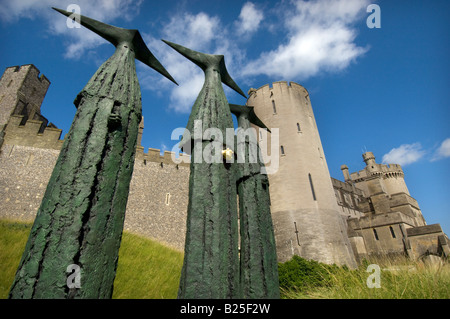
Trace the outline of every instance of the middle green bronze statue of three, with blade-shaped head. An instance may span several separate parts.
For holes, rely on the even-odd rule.
[[[164,41],[164,40],[163,40]],[[164,41],[197,64],[205,73],[205,82],[190,114],[187,130],[193,134],[201,120],[202,132],[218,128],[225,136],[233,120],[222,82],[245,96],[228,75],[222,55],[196,52]],[[199,129],[199,128],[196,128]],[[239,298],[239,252],[235,166],[231,163],[196,162],[197,152],[205,150],[213,138],[203,136],[180,143],[186,150],[191,142],[191,171],[185,255],[178,298]],[[189,139],[191,139],[189,137]],[[203,155],[207,155],[205,152]]]

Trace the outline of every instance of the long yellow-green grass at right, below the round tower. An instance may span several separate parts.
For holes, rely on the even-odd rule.
[[[304,262],[303,262],[304,263]],[[308,261],[307,261],[308,263]],[[433,266],[403,258],[365,262],[355,270],[315,263],[316,280],[281,285],[286,299],[450,299],[450,265]],[[370,264],[379,265],[379,288],[369,288]],[[304,265],[300,266],[304,268]],[[308,266],[311,268],[311,266]],[[285,276],[280,268],[280,279]],[[373,278],[373,277],[371,277]],[[280,281],[281,282],[281,281]],[[372,280],[370,280],[372,282]],[[294,284],[292,284],[294,283]]]

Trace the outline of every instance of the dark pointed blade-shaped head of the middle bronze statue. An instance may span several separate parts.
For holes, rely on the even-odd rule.
[[[231,89],[238,92],[243,97],[247,98],[247,96],[242,92],[242,90],[239,88],[239,86],[234,82],[234,80],[231,78],[230,74],[227,71],[227,68],[225,66],[225,58],[223,55],[213,55],[213,54],[207,54],[202,53],[198,51],[191,50],[189,48],[186,48],[182,45],[162,40],[164,43],[169,45],[171,48],[173,48],[175,51],[180,53],[182,56],[187,58],[188,60],[192,61],[196,65],[198,65],[203,71],[205,71],[210,66],[216,66],[220,70],[220,78],[221,81],[226,84]]]

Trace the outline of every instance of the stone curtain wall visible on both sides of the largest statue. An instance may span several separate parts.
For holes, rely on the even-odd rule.
[[[4,144],[0,152],[0,218],[32,222],[59,151]],[[183,250],[189,167],[136,158],[124,229]],[[167,156],[166,156],[167,157]]]

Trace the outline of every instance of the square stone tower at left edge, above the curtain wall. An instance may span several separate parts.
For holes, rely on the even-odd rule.
[[[33,64],[6,68],[0,79],[0,128],[9,117],[23,115],[23,122],[47,120],[41,116],[41,104],[50,81]]]

